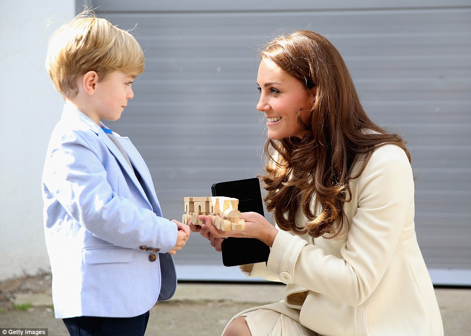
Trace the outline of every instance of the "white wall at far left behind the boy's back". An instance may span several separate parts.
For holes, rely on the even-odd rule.
[[[63,101],[44,60],[49,35],[74,17],[74,3],[0,0],[0,280],[50,270],[41,174]]]

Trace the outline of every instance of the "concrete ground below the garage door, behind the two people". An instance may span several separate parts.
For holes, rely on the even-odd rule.
[[[146,336],[215,336],[246,308],[283,298],[283,285],[250,283],[179,283],[175,296],[152,310]],[[471,335],[471,289],[436,288],[446,336]],[[0,283],[1,328],[48,328],[68,335],[54,318],[50,276]]]

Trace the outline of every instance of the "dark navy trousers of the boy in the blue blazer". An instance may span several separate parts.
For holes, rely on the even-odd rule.
[[[136,317],[78,316],[63,321],[71,336],[143,336],[149,312]]]

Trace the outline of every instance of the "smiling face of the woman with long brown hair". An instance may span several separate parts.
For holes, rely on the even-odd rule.
[[[307,90],[301,82],[265,57],[260,62],[257,85],[260,92],[257,110],[267,119],[268,137],[272,140],[302,138],[306,130],[296,121],[296,114],[301,111],[302,120],[307,120],[315,89]]]

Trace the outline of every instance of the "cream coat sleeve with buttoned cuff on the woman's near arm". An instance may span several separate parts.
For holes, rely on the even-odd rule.
[[[378,148],[357,183],[358,208],[351,220],[341,257],[306,240],[280,231],[267,271],[284,283],[330,295],[352,306],[364,302],[377,287],[393,254],[411,207],[414,183],[404,151],[394,145]]]

